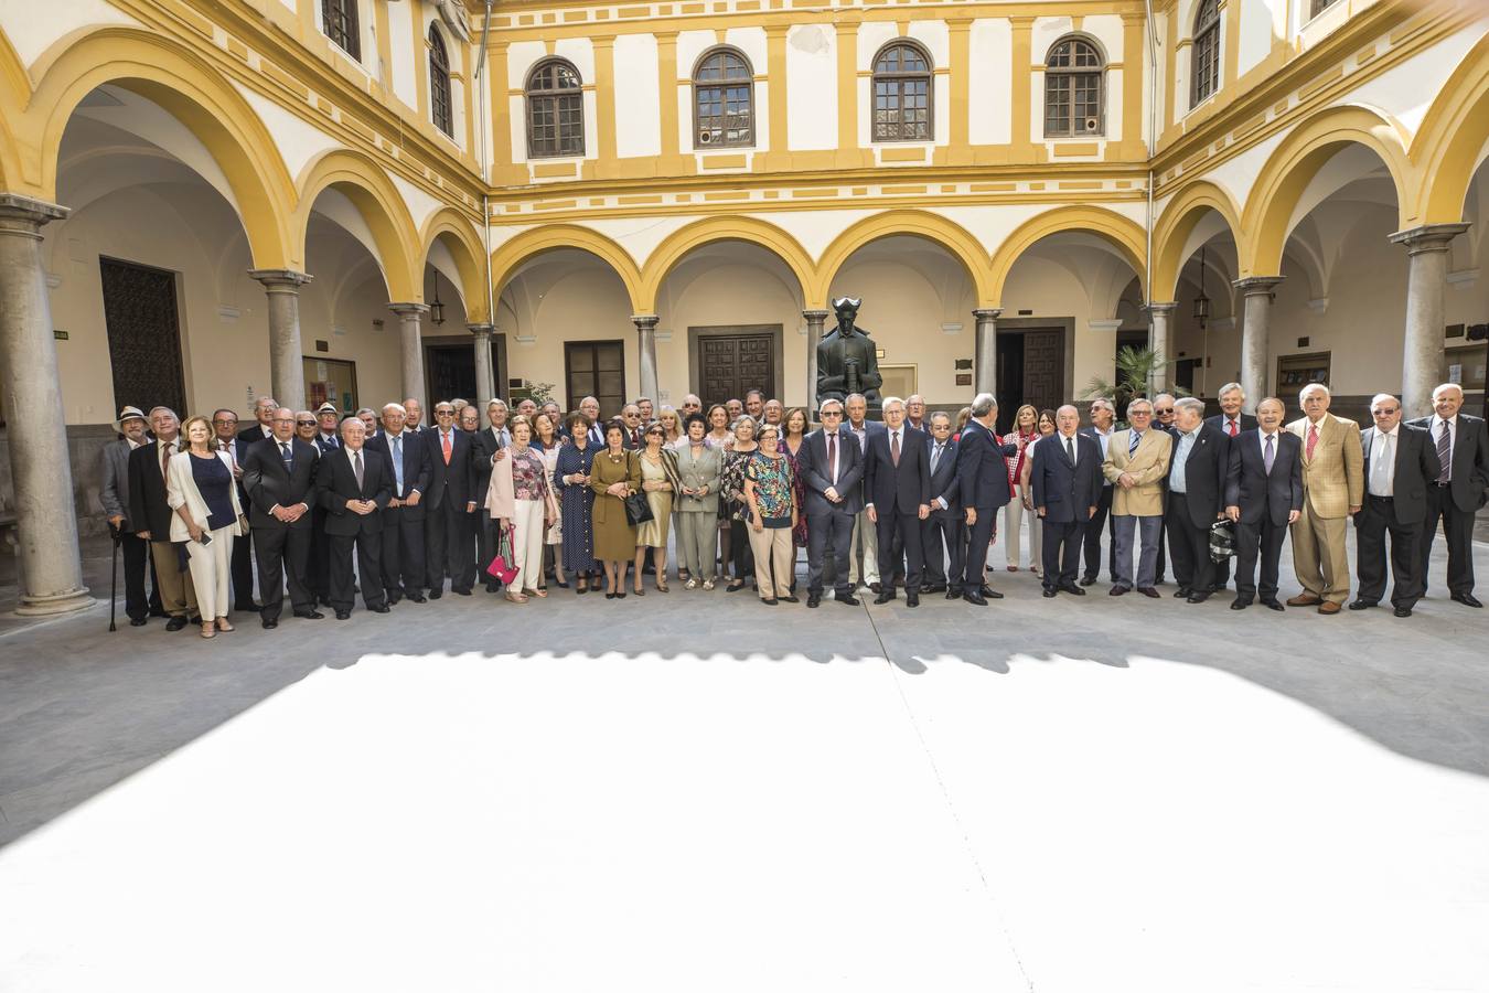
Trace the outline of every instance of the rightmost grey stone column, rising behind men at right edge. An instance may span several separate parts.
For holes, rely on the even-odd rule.
[[[1425,225],[1391,235],[1406,246],[1406,344],[1401,356],[1401,415],[1432,412],[1432,390],[1447,378],[1443,354],[1443,286],[1447,283],[1447,243],[1468,225]]]

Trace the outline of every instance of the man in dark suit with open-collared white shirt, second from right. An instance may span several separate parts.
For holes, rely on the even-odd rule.
[[[1426,587],[1418,543],[1426,520],[1426,491],[1443,466],[1426,429],[1401,423],[1401,400],[1377,393],[1370,399],[1370,415],[1376,426],[1359,436],[1365,457],[1365,502],[1355,514],[1359,590],[1349,609],[1367,610],[1385,596],[1389,533],[1391,606],[1398,618],[1409,618]]]

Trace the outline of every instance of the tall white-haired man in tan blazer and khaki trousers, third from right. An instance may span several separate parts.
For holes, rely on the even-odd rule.
[[[1292,569],[1303,593],[1288,606],[1318,604],[1339,613],[1349,598],[1349,517],[1365,499],[1365,456],[1359,424],[1328,412],[1328,387],[1309,383],[1298,393],[1303,417],[1288,430],[1303,442],[1303,515],[1292,524]]]

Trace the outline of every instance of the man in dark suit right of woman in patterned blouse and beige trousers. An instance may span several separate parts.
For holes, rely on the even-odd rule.
[[[864,500],[859,488],[864,453],[843,426],[841,400],[822,400],[817,417],[822,427],[803,439],[797,457],[807,491],[807,606],[822,603],[822,570],[828,561],[837,578],[834,598],[852,607],[858,606],[858,597],[847,563],[853,554],[853,521]]]

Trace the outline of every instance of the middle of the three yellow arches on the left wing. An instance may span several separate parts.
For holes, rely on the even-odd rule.
[[[326,189],[335,189],[350,199],[372,231],[389,302],[423,304],[424,255],[414,231],[414,219],[383,167],[360,152],[337,149],[305,167],[299,182],[299,207],[295,210],[298,256],[305,258],[310,211]]]

